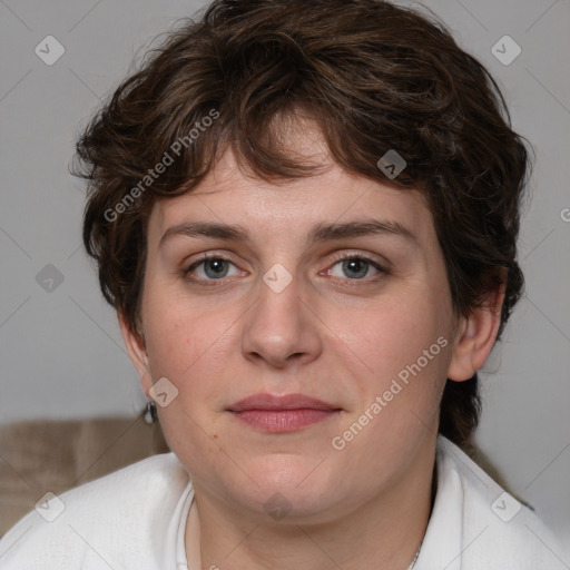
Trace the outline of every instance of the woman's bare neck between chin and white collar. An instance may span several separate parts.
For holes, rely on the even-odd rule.
[[[434,460],[434,445],[424,446],[390,488],[326,522],[285,518],[268,524],[244,517],[195,484],[202,557],[197,568],[406,570],[430,519]]]

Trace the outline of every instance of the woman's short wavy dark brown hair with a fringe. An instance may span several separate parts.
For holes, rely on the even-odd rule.
[[[213,109],[216,120],[140,186]],[[314,165],[284,153],[272,127],[298,109],[316,119],[341,167],[422,191],[455,314],[504,287],[500,337],[523,287],[523,139],[495,81],[436,18],[381,0],[215,0],[150,50],[94,117],[77,144],[76,174],[89,186],[83,242],[105,298],[131,330],[140,335],[155,202],[191,191],[228,145],[266,180],[311,176]],[[406,167],[389,180],[377,161],[391,149]],[[117,208],[129,190],[137,199]],[[466,444],[479,414],[478,375],[448,380],[440,432]]]

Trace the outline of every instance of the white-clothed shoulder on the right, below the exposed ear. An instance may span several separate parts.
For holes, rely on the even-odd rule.
[[[448,563],[456,557],[464,570],[568,568],[568,553],[534,512],[442,436],[438,441],[436,465],[438,494],[433,524],[432,520],[429,524],[429,548],[441,543],[442,534],[446,539],[453,537],[445,540]]]

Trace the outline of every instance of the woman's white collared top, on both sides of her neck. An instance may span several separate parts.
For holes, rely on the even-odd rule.
[[[568,547],[563,552],[525,507],[511,519],[519,503],[502,495],[489,475],[442,436],[436,465],[435,503],[414,570],[570,568]],[[199,570],[194,492],[174,453],[151,456],[59,499],[65,510],[53,521],[33,510],[0,540],[1,570]],[[61,503],[43,507],[38,510],[50,518]]]

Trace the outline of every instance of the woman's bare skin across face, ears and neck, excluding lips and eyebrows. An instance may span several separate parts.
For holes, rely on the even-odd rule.
[[[269,184],[227,150],[191,194],[158,202],[148,226],[141,335],[119,315],[121,331],[147,395],[160,377],[178,390],[158,412],[195,488],[200,568],[405,569],[430,517],[445,379],[466,380],[483,365],[503,295],[493,292],[488,308],[456,317],[422,196],[341,169],[309,120],[283,132],[292,154],[323,170]],[[382,234],[306,242],[314,224],[371,217],[402,224],[416,240]],[[250,242],[175,235],[159,246],[168,228],[197,220],[239,224]],[[206,263],[185,278],[204,253],[228,259],[227,274],[216,279]],[[389,273],[334,257],[348,254]],[[281,293],[263,281],[277,263],[293,276]],[[334,449],[333,438],[439,337],[446,346],[343,450]],[[297,432],[265,433],[227,411],[257,392],[307,394],[342,411]],[[264,508],[276,492],[289,508],[279,520]]]

